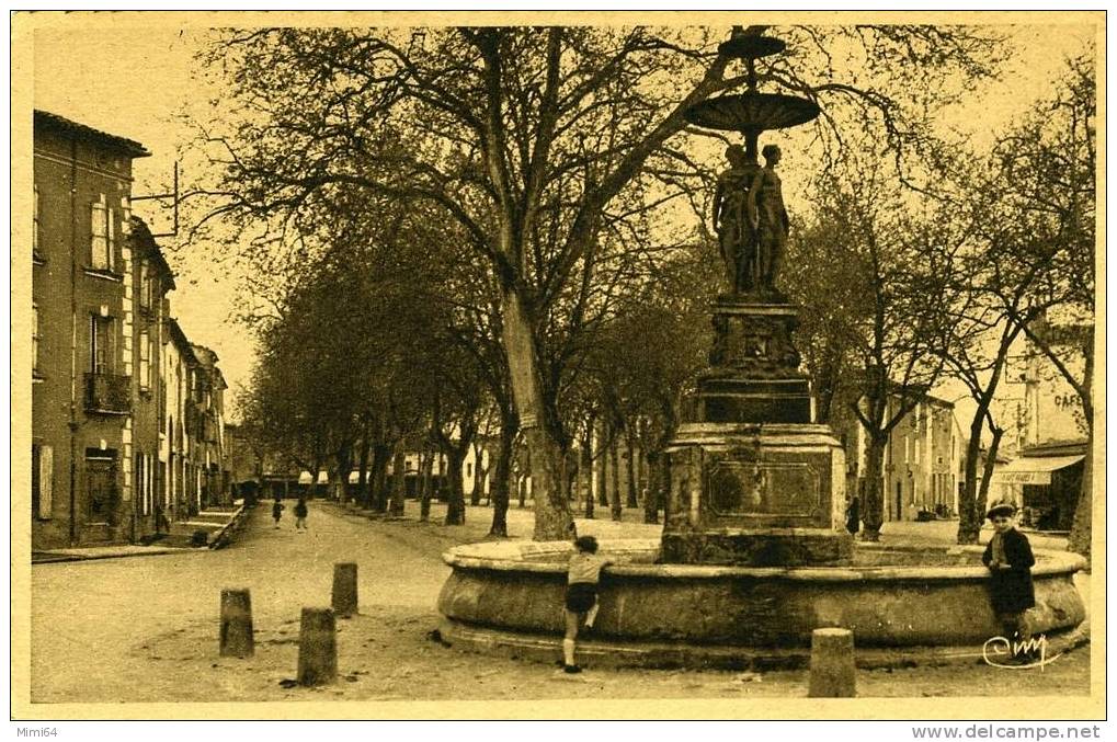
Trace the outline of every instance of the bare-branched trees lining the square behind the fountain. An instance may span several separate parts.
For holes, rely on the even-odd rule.
[[[522,438],[535,538],[569,535],[574,472],[586,468],[575,443],[640,436],[645,450],[662,450],[703,365],[705,306],[720,287],[706,234],[713,163],[691,153],[722,137],[688,129],[682,112],[742,83],[716,50],[726,30],[265,29],[216,39],[207,69],[227,78],[230,96],[214,102],[223,123],[204,130],[214,182],[195,237],[221,236],[210,231],[220,222],[257,276],[246,314],[264,346],[249,405],[261,429],[306,465],[332,458],[341,472],[371,456],[373,481],[420,436],[441,447],[458,483],[455,462],[491,429],[502,441],[495,533]],[[1009,324],[1029,332],[1031,284],[1015,284],[1027,306],[992,314],[1001,289],[991,287],[1019,268],[1011,250],[1028,251],[1027,232],[1031,249],[1065,256],[1086,236],[1070,245],[1065,230],[1018,220],[1021,241],[1008,244],[1005,217],[992,210],[1011,200],[980,198],[990,183],[1062,199],[1061,182],[1021,180],[1021,167],[1040,163],[1005,156],[1019,146],[975,167],[935,136],[935,115],[955,95],[936,80],[967,87],[992,76],[999,39],[963,27],[779,35],[795,56],[770,58],[762,80],[825,112],[784,284],[805,307],[800,343],[820,417],[852,413],[870,434],[872,538],[882,441],[896,421],[944,371],[968,369],[975,394],[992,394],[1000,371],[983,339]],[[857,66],[842,66],[838,50]],[[1037,159],[1059,150],[1059,125],[1041,118],[1005,142],[1030,136]],[[1085,197],[1075,198],[1081,211]],[[1090,215],[1077,213],[1078,229]],[[1070,283],[1056,263],[1066,258],[1035,268],[1052,292]],[[886,403],[897,392],[898,409]]]

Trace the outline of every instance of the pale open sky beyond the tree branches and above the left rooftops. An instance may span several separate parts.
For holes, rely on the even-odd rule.
[[[1081,48],[1091,35],[1086,26],[1052,26],[1057,18],[1048,16],[1042,23],[1012,27],[1015,59],[1004,80],[974,91],[970,106],[953,112],[949,123],[989,133],[1041,96],[1060,70],[1062,58]],[[31,37],[35,107],[143,143],[152,156],[135,161],[133,194],[165,192],[175,150],[190,136],[176,116],[214,94],[197,87],[191,76],[204,26],[211,21],[204,16],[183,20],[157,13],[109,12],[40,16],[37,20],[44,21],[44,27]],[[222,22],[237,21],[226,17]],[[271,16],[265,22],[283,21]],[[13,85],[19,82],[13,80]],[[787,167],[809,165],[792,161]],[[191,173],[184,171],[180,179],[182,188],[189,188]],[[160,212],[154,202],[135,203],[135,212],[153,231],[170,230],[168,212]],[[237,276],[217,261],[217,250],[204,246],[180,250],[173,237],[160,242],[178,276],[178,288],[171,294],[172,314],[192,342],[218,353],[230,388],[247,383],[255,344],[248,331],[230,317]]]

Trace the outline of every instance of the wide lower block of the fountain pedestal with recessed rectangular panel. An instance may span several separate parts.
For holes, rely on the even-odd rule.
[[[849,559],[846,456],[829,427],[687,424],[667,454],[665,562],[802,567]]]

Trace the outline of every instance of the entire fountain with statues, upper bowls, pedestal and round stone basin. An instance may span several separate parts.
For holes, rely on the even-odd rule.
[[[599,665],[801,667],[811,631],[853,631],[858,664],[975,662],[1000,625],[980,546],[861,544],[842,527],[844,453],[812,421],[793,343],[798,308],[779,289],[787,215],[761,133],[814,120],[806,98],[757,91],[755,60],[783,41],[734,34],[723,54],[742,59],[747,89],[687,112],[699,126],[739,132],[726,152],[714,225],[729,293],[713,307],[714,346],[696,419],[670,443],[662,538],[602,541],[614,561],[600,586],[594,637],[580,657]],[[566,542],[451,549],[439,597],[441,636],[490,654],[561,656]],[[1072,577],[1085,561],[1037,551],[1031,624],[1049,655],[1085,640]]]

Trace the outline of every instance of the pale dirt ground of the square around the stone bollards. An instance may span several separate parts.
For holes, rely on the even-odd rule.
[[[805,672],[590,667],[570,676],[553,665],[445,647],[429,638],[438,625],[438,592],[449,574],[440,554],[484,539],[489,511],[470,508],[466,525],[448,527],[420,523],[410,510],[404,520],[369,521],[336,505],[311,506],[308,533],[294,532],[288,520],[273,527],[261,507],[238,541],[220,551],[35,565],[32,702],[805,696]],[[440,517],[441,511],[436,507],[433,515]],[[579,529],[601,536],[658,534],[658,526],[634,522],[639,513],[630,515],[632,522],[579,521]],[[926,529],[914,539],[886,530],[886,540],[941,541],[948,533],[945,524],[916,525],[938,530]],[[514,536],[528,538],[529,511],[514,508],[509,526]],[[332,565],[341,561],[359,563],[361,602],[359,616],[338,620],[341,678],[321,688],[286,687],[296,673],[300,609],[330,603]],[[222,658],[220,590],[241,587],[251,590],[256,654]],[[1089,654],[1088,646],[1073,650],[1042,670],[983,664],[859,670],[858,695],[1087,695]]]

